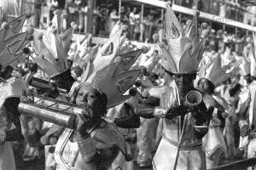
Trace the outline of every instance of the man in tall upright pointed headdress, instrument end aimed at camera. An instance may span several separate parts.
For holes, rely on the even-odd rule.
[[[162,62],[166,63],[166,71],[172,75],[175,83],[172,87],[170,84],[150,88],[148,94],[160,98],[160,107],[141,105],[137,111],[144,115],[148,113],[148,117],[152,112],[154,116],[165,117],[162,139],[153,159],[154,169],[203,170],[206,167],[201,139],[207,133],[213,108],[224,111],[216,100],[202,95],[193,86],[207,31],[201,30],[199,36],[197,14],[192,21],[187,21],[185,28],[182,27],[168,3],[165,21],[168,48],[162,47]],[[203,29],[206,27],[206,24],[202,25]],[[192,106],[192,109],[188,105],[186,100],[189,101],[191,95],[201,96],[198,98],[203,100],[200,106]]]

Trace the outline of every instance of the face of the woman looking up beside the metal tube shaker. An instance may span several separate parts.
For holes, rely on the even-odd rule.
[[[88,85],[84,85],[79,89],[79,93],[76,98],[76,104],[95,108],[96,101],[98,100],[97,98],[96,89],[91,88]]]

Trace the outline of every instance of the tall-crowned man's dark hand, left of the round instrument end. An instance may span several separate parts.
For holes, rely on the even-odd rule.
[[[166,111],[166,118],[172,119],[175,116],[184,116],[187,113],[189,113],[189,107],[186,105],[177,105],[174,107],[171,107]]]

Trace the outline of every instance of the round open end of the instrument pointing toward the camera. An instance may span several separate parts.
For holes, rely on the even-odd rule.
[[[191,90],[186,95],[186,102],[190,106],[200,105],[202,101],[203,101],[202,94],[198,91]]]

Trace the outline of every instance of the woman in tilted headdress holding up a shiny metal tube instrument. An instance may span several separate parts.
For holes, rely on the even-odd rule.
[[[119,37],[120,35],[121,32]],[[84,105],[84,111],[90,113],[90,116],[79,116],[74,131],[53,125],[40,138],[41,144],[49,144],[53,141],[52,138],[58,139],[55,141],[57,169],[107,169],[119,154],[119,150],[126,160],[131,161],[131,156],[126,153],[123,136],[119,134],[113,123],[102,120],[108,108],[119,105],[131,97],[121,94],[131,87],[139,74],[139,71],[129,71],[129,69],[138,57],[136,54],[141,54],[142,50],[119,55],[119,59],[115,59],[118,47],[111,42],[111,39],[106,42],[98,53],[100,57],[93,63],[89,62],[86,69],[91,70],[84,71],[86,75],[82,75],[79,87],[74,90],[74,103]],[[34,138],[38,139],[38,133],[27,131],[26,116],[21,122],[28,143],[37,144],[38,140]],[[65,154],[67,152],[69,154]]]

